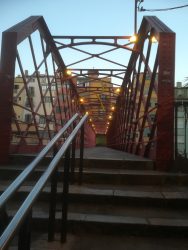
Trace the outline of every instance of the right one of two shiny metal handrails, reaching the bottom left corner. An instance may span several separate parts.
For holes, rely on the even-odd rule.
[[[84,122],[86,121],[88,115],[84,115],[78,125],[74,128],[72,133],[69,135],[69,137],[66,139],[64,144],[61,146],[57,154],[54,156],[53,160],[49,164],[46,171],[43,173],[43,175],[39,178],[17,213],[14,215],[10,223],[8,224],[7,228],[3,232],[3,234],[0,237],[0,249],[6,249],[6,247],[10,244],[11,239],[14,237],[16,231],[23,223],[26,216],[29,214],[29,212],[32,209],[33,203],[37,199],[37,197],[40,195],[42,189],[44,188],[46,182],[48,179],[52,176],[54,171],[57,168],[57,165],[59,161],[61,160],[62,156],[65,154],[67,149],[69,149],[71,142],[74,140],[75,136],[77,135],[78,131],[81,127],[83,127]]]

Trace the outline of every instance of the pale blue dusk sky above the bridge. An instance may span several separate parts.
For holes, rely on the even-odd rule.
[[[31,15],[42,15],[53,35],[132,35],[134,0],[0,0],[2,31]],[[188,0],[144,0],[145,9],[170,8]],[[175,81],[188,77],[188,8],[138,12],[138,27],[144,15],[155,15],[176,33]]]

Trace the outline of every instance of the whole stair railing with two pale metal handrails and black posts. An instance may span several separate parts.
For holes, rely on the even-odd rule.
[[[48,240],[52,241],[55,234],[55,211],[56,211],[56,192],[57,192],[57,173],[58,168],[62,165],[63,174],[63,196],[62,196],[62,223],[61,223],[61,241],[66,241],[67,235],[67,205],[68,205],[68,190],[70,180],[74,180],[75,170],[75,140],[76,136],[80,135],[80,163],[79,163],[79,183],[82,182],[83,171],[83,149],[84,149],[84,123],[88,115],[84,115],[75,125],[79,115],[75,114],[66,125],[54,136],[54,138],[45,146],[39,155],[23,170],[23,172],[10,184],[10,186],[0,196],[0,210],[5,209],[6,203],[11,199],[23,182],[35,171],[39,163],[44,159],[47,153],[53,150],[54,156],[50,164],[41,174],[41,177],[33,185],[32,190],[25,198],[20,208],[17,210],[9,224],[4,229],[0,237],[0,249],[7,249],[13,237],[18,233],[18,249],[30,249],[31,229],[30,222],[32,220],[32,207],[47,181],[51,181],[51,196],[49,201],[49,225],[48,225]],[[66,138],[63,145],[58,141],[62,138],[65,132],[71,129],[70,135]],[[70,165],[71,153],[71,165]],[[64,158],[63,158],[64,157]],[[62,160],[64,161],[62,163]],[[71,174],[71,175],[70,175]]]

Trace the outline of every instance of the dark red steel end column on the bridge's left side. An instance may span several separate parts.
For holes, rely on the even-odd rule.
[[[0,163],[8,162],[16,59],[15,32],[4,32],[0,67]]]

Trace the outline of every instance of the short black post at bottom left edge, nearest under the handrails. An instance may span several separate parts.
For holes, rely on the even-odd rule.
[[[18,250],[30,250],[31,247],[31,221],[32,210],[29,212],[22,224],[18,237]]]

